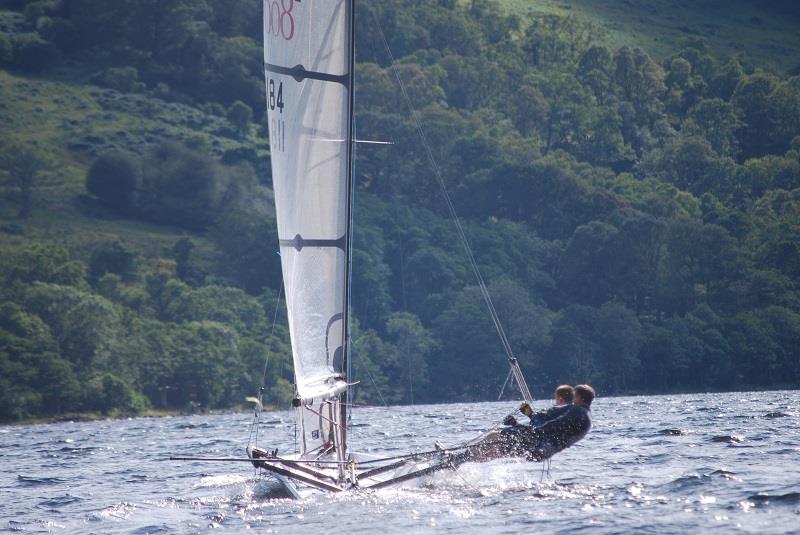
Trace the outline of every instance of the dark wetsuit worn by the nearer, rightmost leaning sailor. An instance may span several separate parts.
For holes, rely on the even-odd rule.
[[[581,405],[566,407],[540,427],[518,425],[503,429],[500,434],[503,453],[541,461],[585,437],[592,427],[592,413]]]

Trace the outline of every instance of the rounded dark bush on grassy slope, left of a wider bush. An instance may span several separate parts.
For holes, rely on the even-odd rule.
[[[127,211],[142,182],[136,156],[113,151],[100,155],[86,174],[86,191],[111,208]]]

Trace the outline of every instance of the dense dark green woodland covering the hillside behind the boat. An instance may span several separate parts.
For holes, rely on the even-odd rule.
[[[286,402],[257,156],[261,1],[5,9],[18,14],[0,33],[5,69],[113,89],[117,108],[197,110],[242,147],[163,135],[88,153],[85,213],[187,235],[157,253],[125,239],[5,247],[0,416],[227,407],[257,391],[267,357],[266,398]],[[356,401],[493,399],[507,374],[396,77],[535,392],[800,384],[799,77],[717,57],[698,36],[656,61],[608,48],[579,18],[489,1],[366,2],[357,15],[358,136],[393,145],[357,155]],[[26,150],[3,159],[22,220],[42,161]]]

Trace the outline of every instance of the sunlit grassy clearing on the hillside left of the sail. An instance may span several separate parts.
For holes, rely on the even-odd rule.
[[[13,194],[0,196],[0,220],[6,222],[0,247],[52,240],[67,244],[79,258],[86,258],[95,244],[113,238],[133,245],[146,257],[158,257],[189,233],[107,217],[83,203],[86,173],[98,154],[114,149],[141,154],[147,143],[162,138],[217,156],[256,146],[266,152],[265,139],[255,135],[234,139],[224,117],[191,106],[7,71],[0,71],[0,119],[0,138],[40,147],[49,160],[34,188],[29,219],[15,219],[18,206],[11,202]],[[201,234],[193,237],[202,242]]]

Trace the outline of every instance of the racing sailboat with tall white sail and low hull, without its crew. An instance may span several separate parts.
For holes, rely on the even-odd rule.
[[[298,451],[279,455],[251,445],[248,458],[297,497],[303,488],[382,488],[452,468],[464,459],[454,449],[378,458],[349,448],[355,0],[264,0],[263,6]]]

